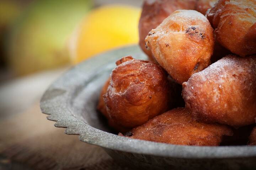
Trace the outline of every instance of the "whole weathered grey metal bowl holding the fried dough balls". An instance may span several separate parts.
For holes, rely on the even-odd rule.
[[[65,133],[103,147],[118,162],[145,169],[254,169],[256,146],[181,146],[136,140],[113,134],[96,106],[101,87],[115,62],[132,55],[146,59],[138,46],[98,55],[70,69],[56,80],[41,99],[47,119],[57,121]]]

